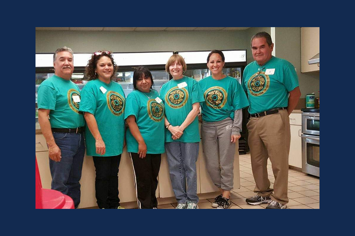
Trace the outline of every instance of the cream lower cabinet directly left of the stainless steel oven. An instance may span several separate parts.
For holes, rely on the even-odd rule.
[[[291,113],[289,119],[291,127],[289,165],[302,168],[301,113]]]

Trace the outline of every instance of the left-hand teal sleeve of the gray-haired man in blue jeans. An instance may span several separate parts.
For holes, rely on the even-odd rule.
[[[48,85],[40,85],[37,89],[38,108],[55,110],[56,90]]]

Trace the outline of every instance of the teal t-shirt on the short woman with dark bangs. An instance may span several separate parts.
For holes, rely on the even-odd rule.
[[[147,145],[148,154],[165,152],[164,104],[159,99],[158,92],[152,89],[149,93],[133,90],[126,99],[125,119],[130,115],[136,117],[136,123]],[[129,128],[126,131],[126,143],[128,152],[138,152],[138,142]]]

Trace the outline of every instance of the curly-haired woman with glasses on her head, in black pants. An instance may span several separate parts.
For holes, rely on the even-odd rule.
[[[94,52],[85,68],[89,82],[81,91],[79,107],[87,124],[86,154],[93,157],[100,209],[124,209],[118,197],[118,170],[124,147],[126,101],[121,85],[112,81],[117,69],[111,52]]]

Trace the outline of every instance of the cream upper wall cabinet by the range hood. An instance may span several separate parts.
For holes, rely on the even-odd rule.
[[[319,63],[308,60],[319,53],[319,27],[301,27],[301,72],[319,71]]]

